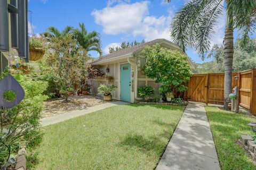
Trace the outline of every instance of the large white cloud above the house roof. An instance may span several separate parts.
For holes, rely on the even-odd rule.
[[[108,4],[120,2],[110,0]],[[103,32],[108,35],[126,33],[132,36],[142,36],[146,41],[156,38],[170,40],[169,26],[173,12],[169,10],[169,16],[148,15],[149,2],[142,1],[127,4],[122,1],[115,6],[107,6],[102,10],[94,10],[95,23],[102,25]]]

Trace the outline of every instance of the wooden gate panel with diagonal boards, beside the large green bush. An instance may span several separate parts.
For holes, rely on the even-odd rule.
[[[188,83],[188,99],[207,103],[207,74],[194,74]]]

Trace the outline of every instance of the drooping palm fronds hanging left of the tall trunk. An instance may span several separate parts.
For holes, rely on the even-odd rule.
[[[171,37],[183,51],[195,47],[204,60],[210,48],[223,0],[191,0],[174,15],[171,23]]]

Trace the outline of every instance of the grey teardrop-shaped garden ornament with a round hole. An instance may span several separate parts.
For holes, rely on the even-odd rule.
[[[13,101],[5,101],[2,97],[5,91],[13,91],[16,95]],[[25,91],[10,74],[0,81],[0,106],[4,108],[12,108],[20,103],[25,96]]]

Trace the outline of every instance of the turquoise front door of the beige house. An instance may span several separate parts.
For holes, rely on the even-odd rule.
[[[121,100],[131,101],[131,64],[120,65]]]

